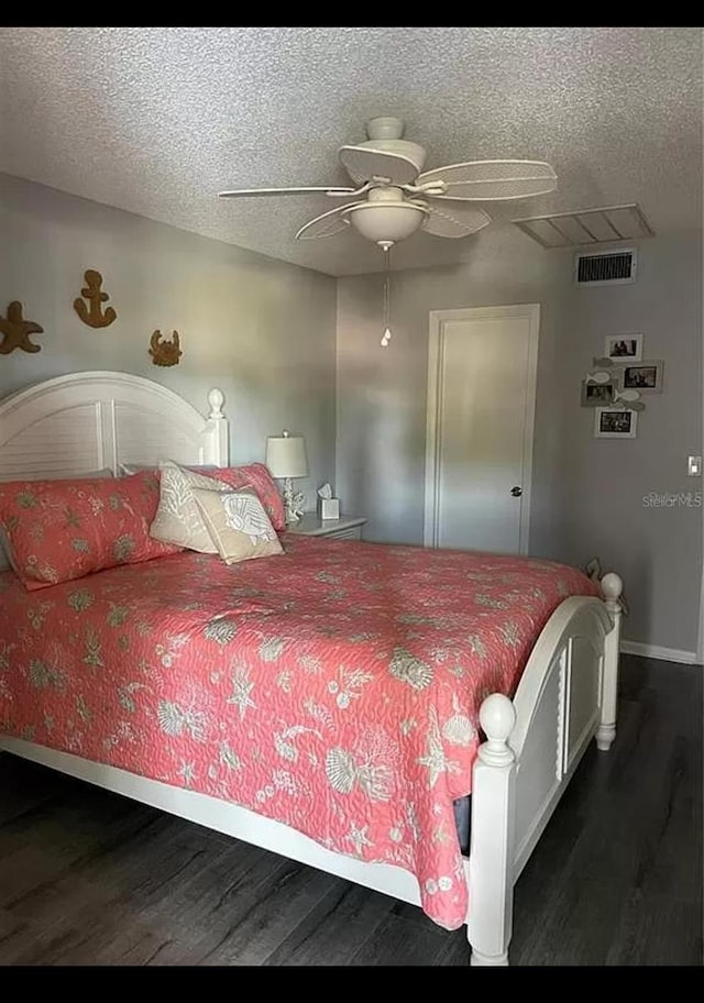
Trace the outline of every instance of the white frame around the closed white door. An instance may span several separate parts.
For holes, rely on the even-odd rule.
[[[526,318],[528,329],[528,365],[526,378],[528,393],[524,412],[524,489],[518,530],[518,552],[528,553],[530,531],[530,499],[532,485],[532,439],[536,416],[536,388],[538,378],[538,335],[540,331],[540,304],[513,304],[503,307],[463,307],[459,310],[431,310],[428,343],[428,397],[426,420],[426,504],[424,517],[424,544],[438,545],[439,515],[439,415],[443,397],[444,324],[458,320],[503,320]]]

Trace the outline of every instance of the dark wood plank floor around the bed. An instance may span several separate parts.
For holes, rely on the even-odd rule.
[[[513,965],[702,963],[702,669],[624,657],[516,888]],[[463,930],[0,756],[0,965],[465,966]]]

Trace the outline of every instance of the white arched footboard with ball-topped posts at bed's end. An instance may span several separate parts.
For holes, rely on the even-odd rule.
[[[574,596],[543,629],[512,703],[482,706],[487,741],[472,787],[472,963],[507,965],[513,889],[590,740],[616,736],[623,584],[605,575],[605,602]]]

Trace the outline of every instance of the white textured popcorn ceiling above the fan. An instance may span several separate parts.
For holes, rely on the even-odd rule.
[[[514,216],[632,201],[656,233],[701,225],[700,29],[0,29],[1,170],[333,275],[383,255],[354,232],[294,241],[328,199],[216,192],[348,184],[337,147],[375,114],[406,120],[427,167],[552,163],[554,195],[492,210],[499,239],[528,240]],[[416,235],[395,267],[479,239]]]

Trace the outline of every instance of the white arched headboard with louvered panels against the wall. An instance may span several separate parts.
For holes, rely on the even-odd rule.
[[[129,373],[75,373],[0,400],[0,481],[79,476],[120,463],[227,466],[223,396],[207,418],[158,383]]]

